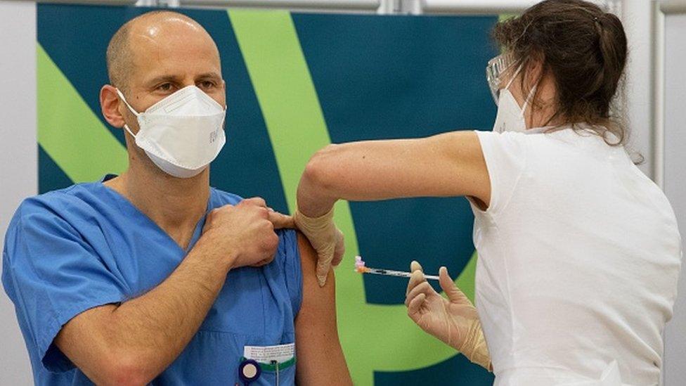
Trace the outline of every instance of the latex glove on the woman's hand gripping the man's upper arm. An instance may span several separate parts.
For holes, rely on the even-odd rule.
[[[343,233],[333,222],[333,208],[321,217],[307,217],[296,209],[293,220],[317,251],[317,281],[323,287],[331,266],[340,264],[345,252]]]

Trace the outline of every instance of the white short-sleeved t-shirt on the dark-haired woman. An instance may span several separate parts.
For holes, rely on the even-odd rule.
[[[588,132],[477,135],[491,203],[472,205],[476,302],[495,385],[657,385],[681,262],[664,193]]]

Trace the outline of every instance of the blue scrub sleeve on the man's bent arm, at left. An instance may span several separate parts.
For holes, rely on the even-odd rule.
[[[122,302],[119,281],[76,229],[34,199],[23,202],[11,221],[3,258],[3,284],[28,349],[48,371],[71,370],[53,340],[83,311]]]

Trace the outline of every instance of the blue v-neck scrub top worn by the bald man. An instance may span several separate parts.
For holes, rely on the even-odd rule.
[[[105,176],[109,179],[111,176]],[[241,198],[212,188],[207,212]],[[203,217],[190,250],[200,238]],[[302,271],[295,231],[277,231],[276,258],[229,272],[200,330],[153,385],[242,385],[243,347],[295,342]],[[92,385],[53,340],[77,314],[126,302],[164,281],[188,250],[102,181],[27,198],[11,220],[2,283],[15,310],[37,385]],[[295,366],[280,367],[281,385]],[[264,368],[250,385],[273,385]]]

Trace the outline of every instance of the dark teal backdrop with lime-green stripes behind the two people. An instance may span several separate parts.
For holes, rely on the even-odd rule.
[[[38,5],[39,190],[126,168],[121,129],[103,119],[112,34],[148,8]],[[211,183],[281,212],[310,155],[328,143],[491,129],[484,68],[493,16],[409,17],[183,9],[212,34],[226,80],[227,143]],[[464,198],[339,202],[339,330],[356,385],[492,385],[493,377],[406,316],[406,281],[351,268],[448,266],[473,298],[473,217]]]

